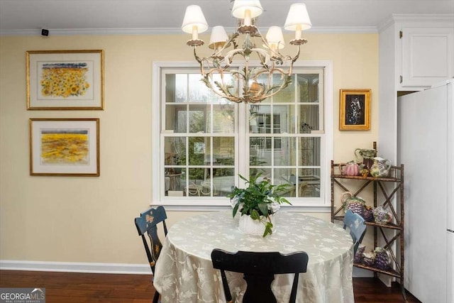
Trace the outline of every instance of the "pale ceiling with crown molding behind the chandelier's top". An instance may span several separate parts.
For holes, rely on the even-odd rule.
[[[259,27],[283,26],[300,0],[262,0]],[[453,14],[454,0],[306,0],[309,31],[370,31],[392,14]],[[198,4],[209,26],[233,28],[231,0],[0,0],[0,34],[181,33],[186,6]]]

